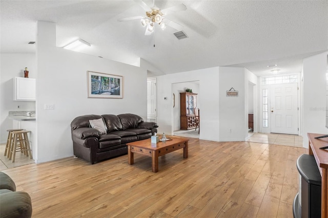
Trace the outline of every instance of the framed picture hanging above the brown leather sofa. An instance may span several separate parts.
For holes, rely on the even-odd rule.
[[[123,98],[123,77],[87,71],[88,98]]]

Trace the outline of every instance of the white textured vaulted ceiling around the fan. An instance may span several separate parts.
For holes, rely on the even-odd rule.
[[[27,43],[36,20],[56,23],[58,47],[81,38],[92,44],[84,53],[129,64],[143,58],[154,74],[238,66],[261,76],[274,64],[295,73],[304,57],[328,50],[328,1],[155,1],[160,9],[178,4],[187,10],[167,18],[187,39],[171,27],[145,36],[139,20],[117,21],[145,14],[136,1],[1,1],[0,51],[35,52]]]

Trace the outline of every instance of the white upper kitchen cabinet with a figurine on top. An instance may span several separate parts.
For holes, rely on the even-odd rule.
[[[14,78],[14,101],[35,101],[36,81],[33,78]]]

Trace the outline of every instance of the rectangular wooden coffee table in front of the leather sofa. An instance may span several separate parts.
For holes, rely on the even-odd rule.
[[[152,171],[158,172],[158,157],[169,154],[172,151],[183,148],[183,158],[188,158],[187,138],[170,137],[172,140],[166,142],[151,143],[150,139],[127,143],[128,163],[134,163],[133,155],[138,153],[152,157]]]

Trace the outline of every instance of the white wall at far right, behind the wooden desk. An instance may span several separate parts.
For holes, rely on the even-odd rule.
[[[303,147],[309,147],[306,134],[328,134],[325,128],[326,114],[326,68],[324,52],[303,60]]]

